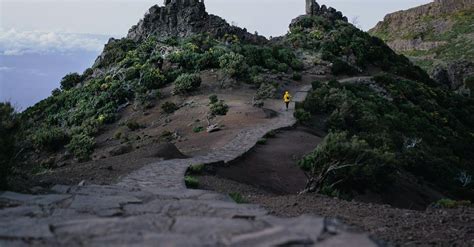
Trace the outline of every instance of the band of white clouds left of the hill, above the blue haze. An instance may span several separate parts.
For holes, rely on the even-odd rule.
[[[0,55],[100,51],[106,41],[99,35],[0,29]]]

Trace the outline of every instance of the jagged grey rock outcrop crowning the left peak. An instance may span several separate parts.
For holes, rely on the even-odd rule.
[[[252,43],[266,42],[262,36],[250,34],[245,29],[229,25],[218,16],[208,14],[203,0],[165,0],[164,6],[151,7],[143,20],[130,29],[127,38],[142,41],[151,36],[166,39],[200,33],[216,37],[230,34]]]

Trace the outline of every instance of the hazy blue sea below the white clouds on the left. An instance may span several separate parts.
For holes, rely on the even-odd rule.
[[[91,67],[99,51],[0,55],[0,102],[25,110],[51,95],[61,78]]]

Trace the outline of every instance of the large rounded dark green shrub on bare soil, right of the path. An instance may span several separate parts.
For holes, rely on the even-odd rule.
[[[321,144],[299,161],[310,178],[308,192],[352,189],[377,191],[390,182],[389,164],[394,155],[371,147],[357,136],[346,132],[329,133]]]

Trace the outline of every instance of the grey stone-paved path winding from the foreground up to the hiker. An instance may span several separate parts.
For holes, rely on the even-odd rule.
[[[298,90],[295,101],[309,89]],[[243,129],[205,156],[149,164],[116,185],[57,185],[49,195],[4,192],[0,246],[375,246],[367,235],[324,218],[278,218],[259,206],[185,187],[190,165],[238,158],[269,131],[294,125],[293,109],[277,109],[271,124]]]

